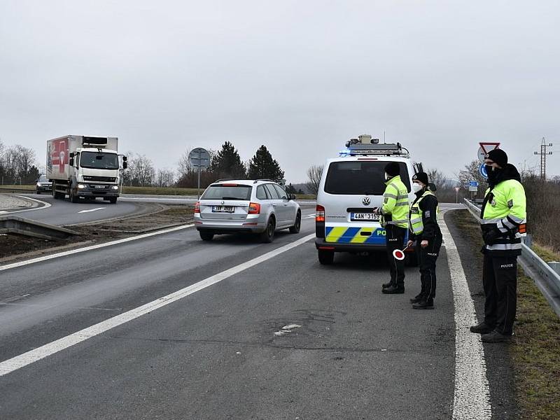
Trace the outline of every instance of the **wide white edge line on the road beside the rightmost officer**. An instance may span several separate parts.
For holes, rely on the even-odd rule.
[[[461,257],[447,223],[440,216],[440,228],[446,244],[455,307],[455,392],[453,419],[491,419],[490,388],[480,335],[469,331],[477,324],[475,304],[470,297]]]

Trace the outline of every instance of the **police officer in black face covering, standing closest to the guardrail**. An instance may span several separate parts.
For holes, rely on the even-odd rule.
[[[517,310],[517,256],[525,232],[526,198],[517,169],[495,149],[484,160],[489,188],[482,203],[484,321],[470,327],[483,342],[507,342]]]

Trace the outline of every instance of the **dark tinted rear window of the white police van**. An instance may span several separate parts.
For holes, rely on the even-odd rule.
[[[341,195],[382,195],[385,191],[384,161],[331,162],[325,180],[325,193]],[[410,192],[405,162],[398,162],[400,178]]]

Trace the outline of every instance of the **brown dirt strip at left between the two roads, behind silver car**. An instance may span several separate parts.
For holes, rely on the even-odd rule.
[[[50,253],[90,246],[141,235],[142,233],[160,230],[174,225],[182,225],[193,221],[193,206],[173,206],[158,204],[157,212],[139,216],[116,218],[111,221],[87,225],[66,226],[81,235],[48,241],[20,235],[0,236],[0,265],[17,260],[36,258]]]

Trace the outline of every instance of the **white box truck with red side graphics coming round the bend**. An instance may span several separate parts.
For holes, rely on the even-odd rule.
[[[64,136],[47,141],[47,179],[52,182],[52,196],[78,202],[80,197],[102,197],[116,203],[119,196],[120,160],[127,168],[127,158],[118,154],[116,137]]]

